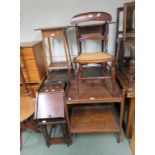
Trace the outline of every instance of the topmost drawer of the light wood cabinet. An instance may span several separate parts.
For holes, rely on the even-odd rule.
[[[33,48],[21,48],[21,56],[24,60],[35,59]]]

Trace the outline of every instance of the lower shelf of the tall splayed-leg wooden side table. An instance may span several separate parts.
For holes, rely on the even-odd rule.
[[[59,62],[52,62],[50,63],[50,65],[48,66],[48,69],[55,69],[55,70],[58,70],[58,69],[66,69],[68,68],[68,64],[66,61],[59,61]]]

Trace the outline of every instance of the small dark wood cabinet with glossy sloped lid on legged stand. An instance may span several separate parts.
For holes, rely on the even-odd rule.
[[[35,120],[37,125],[42,127],[47,146],[51,144],[71,143],[66,113],[64,107],[64,82],[50,83],[46,77],[38,88],[36,95],[37,103],[35,107]],[[50,132],[48,127],[51,127]],[[53,137],[51,135],[53,125],[60,125],[62,128],[62,137]]]

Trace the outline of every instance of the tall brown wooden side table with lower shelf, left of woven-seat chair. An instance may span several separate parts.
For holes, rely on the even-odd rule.
[[[70,69],[71,69],[71,54],[68,47],[68,40],[66,36],[67,27],[52,27],[52,28],[40,28],[36,30],[41,30],[42,33],[42,42],[43,42],[43,52],[44,52],[44,62],[46,66],[46,73],[48,75],[49,70],[57,69],[68,69],[68,79],[70,79]],[[65,52],[65,61],[56,61],[54,60],[54,39],[61,39],[64,52]],[[49,56],[49,61],[47,57]]]

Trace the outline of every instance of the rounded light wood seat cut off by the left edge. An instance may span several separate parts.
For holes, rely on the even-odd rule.
[[[20,122],[23,122],[34,113],[35,101],[33,97],[20,97]]]

